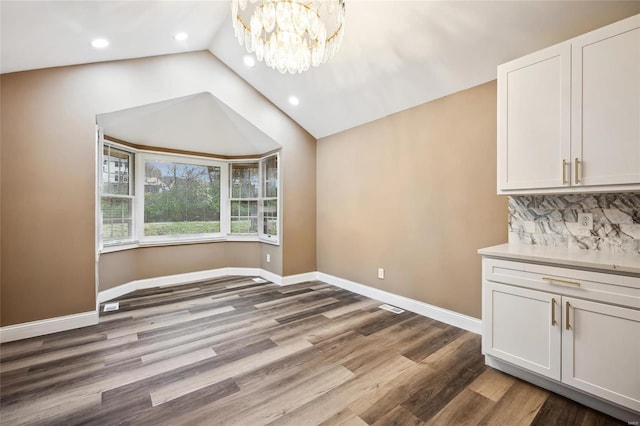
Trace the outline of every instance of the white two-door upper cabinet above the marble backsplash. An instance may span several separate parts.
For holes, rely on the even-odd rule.
[[[498,67],[498,193],[640,190],[640,15]]]

